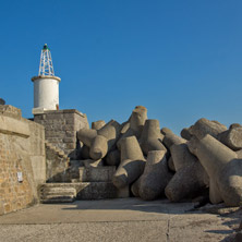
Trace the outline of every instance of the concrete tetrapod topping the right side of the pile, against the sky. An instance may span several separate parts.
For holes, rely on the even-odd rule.
[[[190,133],[198,138],[203,138],[206,134],[210,134],[217,138],[218,134],[226,130],[227,126],[223,124],[204,118],[197,120],[196,123],[189,129]]]

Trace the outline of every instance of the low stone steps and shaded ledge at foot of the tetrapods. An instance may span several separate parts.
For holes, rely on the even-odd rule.
[[[68,203],[74,199],[105,199],[129,197],[129,187],[118,190],[111,182],[116,167],[82,167],[71,161],[70,182],[45,183],[39,187],[41,203]],[[75,171],[74,171],[75,170]],[[78,171],[78,174],[76,173]]]

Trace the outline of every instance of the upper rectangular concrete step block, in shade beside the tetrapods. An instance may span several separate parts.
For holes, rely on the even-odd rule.
[[[111,182],[116,167],[81,167],[78,171],[81,182]]]

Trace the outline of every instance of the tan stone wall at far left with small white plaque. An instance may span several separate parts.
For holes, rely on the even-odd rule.
[[[0,215],[38,201],[37,186],[46,180],[44,145],[44,126],[0,106]]]

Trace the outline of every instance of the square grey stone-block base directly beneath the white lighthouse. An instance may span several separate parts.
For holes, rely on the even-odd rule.
[[[78,159],[76,131],[89,126],[86,114],[75,109],[51,110],[35,114],[34,120],[45,126],[48,143],[61,148],[71,159]]]

